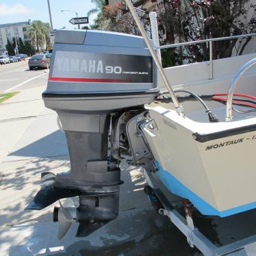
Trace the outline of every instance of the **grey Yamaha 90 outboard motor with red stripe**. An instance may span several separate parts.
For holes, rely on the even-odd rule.
[[[54,219],[63,217],[99,228],[118,216],[119,163],[138,161],[149,153],[144,148],[142,155],[132,151],[126,124],[132,123],[136,133],[137,121],[131,120],[143,116],[144,104],[157,95],[156,79],[155,64],[141,37],[57,31],[42,98],[60,118],[71,170],[42,173],[42,188],[27,209],[43,209],[59,199],[79,196],[75,211],[61,205],[55,208]],[[92,227],[88,229],[86,234]]]

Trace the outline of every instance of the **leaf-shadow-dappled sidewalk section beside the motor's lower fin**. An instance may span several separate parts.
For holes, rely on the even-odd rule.
[[[25,211],[24,209],[36,192],[40,190],[41,172],[68,170],[70,166],[67,157],[27,159],[12,163],[12,169],[8,169],[8,163],[3,163],[2,166],[0,172],[0,226],[16,225],[33,219],[45,220],[44,213],[49,212],[49,209],[52,212],[52,206],[41,212]]]

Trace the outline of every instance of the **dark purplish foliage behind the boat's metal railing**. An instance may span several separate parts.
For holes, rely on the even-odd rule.
[[[256,5],[249,0],[170,0],[156,10],[165,43],[250,34],[256,31]],[[214,42],[214,58],[241,55],[251,38]],[[181,58],[209,60],[209,46],[185,47]]]

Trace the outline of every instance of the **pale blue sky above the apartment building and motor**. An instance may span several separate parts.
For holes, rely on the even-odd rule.
[[[95,7],[91,0],[50,0],[50,5],[53,29],[77,28],[77,25],[68,22],[76,16],[75,13],[60,12],[61,10],[78,12],[78,16],[85,17],[87,12]],[[93,24],[96,16],[96,14],[90,16],[90,24]],[[50,23],[47,0],[0,0],[0,24],[27,21],[28,19]]]

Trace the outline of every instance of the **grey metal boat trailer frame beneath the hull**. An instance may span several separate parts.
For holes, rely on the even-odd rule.
[[[190,206],[186,204],[187,202],[183,204],[185,209],[184,217],[175,209],[175,206],[168,201],[162,190],[157,188],[157,185],[153,183],[154,179],[151,173],[147,172],[145,169],[143,172],[146,181],[149,183],[149,185],[144,188],[144,192],[148,195],[149,192],[151,193],[149,199],[153,207],[155,208],[155,205],[157,205],[157,208],[155,208],[157,213],[162,216],[167,216],[172,224],[185,235],[190,247],[194,248],[195,246],[203,255],[207,256],[248,256],[245,247],[256,242],[256,235],[251,235],[248,238],[224,246],[216,246],[194,226],[192,210]]]

